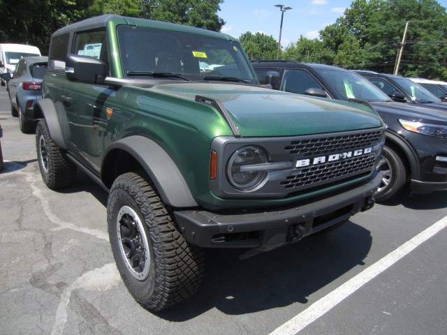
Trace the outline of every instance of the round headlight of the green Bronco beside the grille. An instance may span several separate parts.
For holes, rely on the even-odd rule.
[[[243,147],[235,151],[228,161],[228,179],[239,191],[255,191],[267,181],[268,172],[260,166],[267,162],[267,155],[261,148]]]

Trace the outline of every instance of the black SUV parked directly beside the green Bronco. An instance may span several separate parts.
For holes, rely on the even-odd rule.
[[[387,124],[383,181],[377,201],[389,200],[409,185],[411,193],[447,189],[447,112],[395,103],[353,71],[296,61],[253,61],[261,84],[295,94],[365,103]],[[430,104],[431,105],[431,104]]]

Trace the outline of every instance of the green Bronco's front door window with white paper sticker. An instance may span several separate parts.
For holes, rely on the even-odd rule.
[[[107,40],[105,30],[82,31],[75,36],[73,54],[94,57],[103,61],[109,69]]]

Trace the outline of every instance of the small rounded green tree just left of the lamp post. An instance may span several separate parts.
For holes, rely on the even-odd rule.
[[[272,36],[247,31],[240,36],[239,41],[251,60],[277,57],[278,42]]]

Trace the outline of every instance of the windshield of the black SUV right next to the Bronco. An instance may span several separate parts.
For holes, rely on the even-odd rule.
[[[332,89],[342,96],[343,100],[390,101],[390,98],[380,89],[356,73],[328,68],[316,68],[315,70]]]

